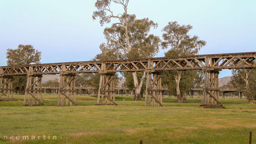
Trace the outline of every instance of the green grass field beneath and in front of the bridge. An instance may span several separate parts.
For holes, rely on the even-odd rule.
[[[164,97],[164,107],[144,107],[132,96],[116,96],[118,106],[94,106],[96,96],[77,96],[78,106],[68,107],[55,106],[57,95],[43,95],[50,101],[32,107],[22,106],[23,96],[14,98],[20,101],[0,102],[0,143],[247,144],[249,131],[256,143],[256,105],[245,99],[220,98],[224,109],[201,109],[202,98],[177,103]]]

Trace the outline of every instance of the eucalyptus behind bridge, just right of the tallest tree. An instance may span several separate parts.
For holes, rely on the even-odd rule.
[[[162,48],[170,48],[165,53],[166,57],[182,56],[182,55],[196,55],[199,50],[206,45],[206,42],[200,40],[198,36],[190,36],[188,32],[192,30],[191,25],[179,25],[176,21],[169,22],[167,26],[162,29]],[[169,91],[177,96],[178,103],[183,103],[184,94],[189,90],[196,71],[167,71],[164,73],[166,85]]]

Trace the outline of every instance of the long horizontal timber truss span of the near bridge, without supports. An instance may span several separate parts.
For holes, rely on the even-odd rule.
[[[210,59],[211,64],[207,64]],[[256,52],[0,66],[2,76],[256,68]],[[208,61],[207,61],[208,62]],[[104,67],[104,68],[103,68]],[[30,70],[31,69],[31,70]]]

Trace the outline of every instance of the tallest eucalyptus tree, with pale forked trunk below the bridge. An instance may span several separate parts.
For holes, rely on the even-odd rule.
[[[123,13],[114,15],[110,9],[111,2],[122,6]],[[129,0],[97,0],[92,18],[100,19],[100,24],[110,23],[114,19],[111,27],[106,27],[103,34],[107,43],[102,43],[100,48],[102,53],[111,53],[117,59],[134,59],[154,57],[159,52],[160,38],[149,34],[151,28],[157,28],[158,24],[148,18],[137,19],[135,15],[127,14]],[[135,89],[134,100],[140,100],[139,95],[145,79],[143,72],[140,82],[137,72],[132,73],[133,86]],[[124,75],[125,76],[125,75]]]

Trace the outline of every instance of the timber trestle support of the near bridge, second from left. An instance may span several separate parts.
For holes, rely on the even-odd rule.
[[[31,67],[29,68],[29,71],[30,73],[28,73],[27,75],[27,85],[25,90],[23,106],[43,105],[42,75],[31,74]]]

